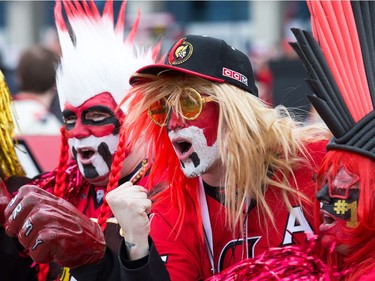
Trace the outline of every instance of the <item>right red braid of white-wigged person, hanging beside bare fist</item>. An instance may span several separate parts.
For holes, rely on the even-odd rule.
[[[124,160],[126,156],[126,138],[125,138],[125,128],[121,126],[119,144],[117,146],[117,151],[113,157],[113,162],[111,166],[111,173],[109,175],[109,182],[107,185],[106,194],[118,186],[118,181],[120,179],[121,169],[124,165]],[[112,215],[111,209],[107,203],[107,200],[103,200],[103,205],[100,208],[100,214],[98,217],[98,224],[100,225],[102,231],[104,232],[107,226],[107,219]]]

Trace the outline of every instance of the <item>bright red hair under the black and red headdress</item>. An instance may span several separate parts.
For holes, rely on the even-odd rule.
[[[353,228],[342,227],[341,231],[349,238],[337,239],[337,243],[345,244],[350,253],[347,256],[332,253],[328,262],[340,270],[351,269],[345,280],[354,281],[375,265],[375,162],[357,153],[332,150],[323,159],[318,178],[323,178],[329,169],[335,175],[341,166],[360,178],[358,225]]]

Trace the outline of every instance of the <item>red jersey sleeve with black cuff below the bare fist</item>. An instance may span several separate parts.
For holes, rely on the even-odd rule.
[[[187,220],[178,233],[170,223],[173,222],[171,217],[165,218],[159,213],[153,213],[151,217],[149,256],[143,261],[130,262],[126,250],[121,247],[122,280],[193,281],[208,277],[210,267],[207,265],[207,251],[202,248],[199,236],[195,233],[197,225]]]

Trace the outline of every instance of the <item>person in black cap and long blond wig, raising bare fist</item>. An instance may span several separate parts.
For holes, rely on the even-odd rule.
[[[330,134],[265,105],[244,53],[188,35],[130,82],[127,131],[145,134],[149,180],[166,171],[168,188],[150,197],[125,183],[107,194],[124,230],[122,280],[204,280],[270,247],[309,243]]]

